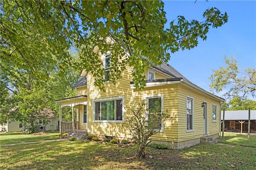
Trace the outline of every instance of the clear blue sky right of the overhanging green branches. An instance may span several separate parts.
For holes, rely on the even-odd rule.
[[[199,87],[210,91],[209,80],[213,73],[225,66],[224,55],[236,55],[239,69],[256,69],[256,1],[164,1],[167,23],[181,15],[186,20],[203,21],[202,14],[216,7],[228,14],[228,22],[211,28],[206,41],[199,39],[198,46],[171,54],[169,64]],[[217,95],[222,95],[225,91]]]

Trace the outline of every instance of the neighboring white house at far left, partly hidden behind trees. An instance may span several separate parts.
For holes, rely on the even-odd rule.
[[[36,119],[36,122],[39,125],[38,129],[40,131],[59,130],[60,119],[54,116],[54,113],[51,109],[44,109],[44,112],[47,113],[48,117],[45,120],[42,120],[40,118]],[[47,125],[45,125],[45,121],[48,121]],[[65,121],[65,119],[62,119],[62,121]],[[22,129],[24,129],[24,125],[22,125],[18,121],[7,121],[7,123],[1,125],[1,127],[5,127],[6,132],[20,132]]]

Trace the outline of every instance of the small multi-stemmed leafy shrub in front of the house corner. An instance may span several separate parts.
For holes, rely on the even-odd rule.
[[[158,128],[170,115],[168,111],[161,111],[161,106],[155,105],[154,110],[146,107],[145,101],[138,103],[132,109],[132,116],[126,118],[124,127],[128,128],[137,147],[139,158],[146,156],[146,147],[151,142],[150,137],[159,132]]]

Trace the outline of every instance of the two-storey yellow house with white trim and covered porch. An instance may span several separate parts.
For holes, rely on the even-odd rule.
[[[101,54],[97,46],[93,50],[99,53],[103,68],[109,73],[111,53]],[[60,118],[64,107],[72,107],[73,113],[72,122],[61,123],[60,133],[73,130],[104,138],[131,138],[123,124],[126,117],[132,115],[133,106],[145,100],[148,105],[157,101],[162,110],[168,109],[173,117],[162,123],[160,132],[151,137],[153,142],[164,143],[169,148],[184,148],[199,143],[204,137],[218,138],[224,99],[191,83],[166,63],[153,65],[145,74],[143,91],[134,87],[132,68],[127,67],[122,79],[115,85],[106,83],[106,92],[103,92],[94,86],[92,74],[83,70],[82,78],[74,85],[77,97],[56,101],[60,105]],[[107,75],[104,78],[108,80]],[[77,109],[76,121],[74,109]]]

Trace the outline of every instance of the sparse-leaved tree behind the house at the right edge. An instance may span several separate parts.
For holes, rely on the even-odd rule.
[[[247,68],[244,71],[238,69],[239,63],[236,61],[236,57],[232,56],[227,58],[224,56],[224,62],[226,67],[220,67],[219,70],[213,70],[214,73],[210,76],[211,91],[217,93],[222,91],[228,85],[231,88],[224,94],[226,99],[232,99],[233,97],[255,97],[256,93],[256,70]]]

